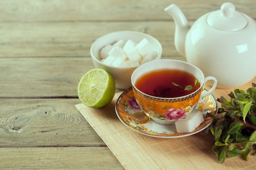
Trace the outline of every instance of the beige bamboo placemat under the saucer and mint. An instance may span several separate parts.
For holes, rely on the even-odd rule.
[[[255,170],[256,156],[225,159],[220,164],[211,147],[213,137],[206,130],[181,138],[156,138],[142,135],[125,126],[115,113],[116,93],[103,108],[76,108],[94,128],[126,170]]]

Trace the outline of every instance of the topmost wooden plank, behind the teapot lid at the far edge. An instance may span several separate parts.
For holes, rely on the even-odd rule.
[[[231,1],[232,2],[232,1]],[[164,12],[177,4],[189,20],[220,9],[222,0],[1,0],[1,22],[59,22],[110,20],[172,20]],[[251,0],[234,2],[236,9],[256,18]]]

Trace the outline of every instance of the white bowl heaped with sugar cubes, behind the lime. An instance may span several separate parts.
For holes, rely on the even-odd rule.
[[[134,43],[133,45],[136,47],[136,50],[133,48],[133,46],[130,46],[125,50],[124,45],[128,44],[128,42]],[[112,48],[112,51],[111,49],[105,49],[106,51],[108,51],[108,55],[109,53],[110,55],[107,56],[106,53],[104,53],[106,56],[103,57],[102,55],[104,54],[102,54],[102,49],[109,45],[115,46],[115,49]],[[162,45],[153,36],[137,31],[117,31],[103,35],[95,40],[91,46],[90,53],[94,66],[96,68],[103,68],[108,73],[110,73],[115,79],[117,88],[126,89],[132,86],[132,72],[140,64],[143,64],[143,59],[146,57],[146,54],[144,54],[144,52],[149,50],[149,48],[150,50],[153,49],[155,51],[155,56],[151,58],[152,60],[161,59]],[[132,53],[132,55],[129,56],[128,53]],[[140,55],[141,57],[139,63],[134,62],[134,60],[136,59],[135,56],[137,55]],[[108,61],[106,61],[107,57],[112,57],[112,59],[110,58]],[[117,58],[115,62],[112,61],[113,57]],[[127,65],[127,63],[131,65]]]

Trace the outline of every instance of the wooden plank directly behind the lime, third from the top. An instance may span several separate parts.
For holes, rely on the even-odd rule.
[[[79,80],[94,68],[89,57],[0,58],[0,63],[0,99],[77,97]]]

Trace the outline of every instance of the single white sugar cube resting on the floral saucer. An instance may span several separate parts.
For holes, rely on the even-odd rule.
[[[202,122],[204,122],[204,117],[200,111],[194,110],[185,119],[179,119],[175,122],[176,130],[179,133],[192,132],[197,128]]]

